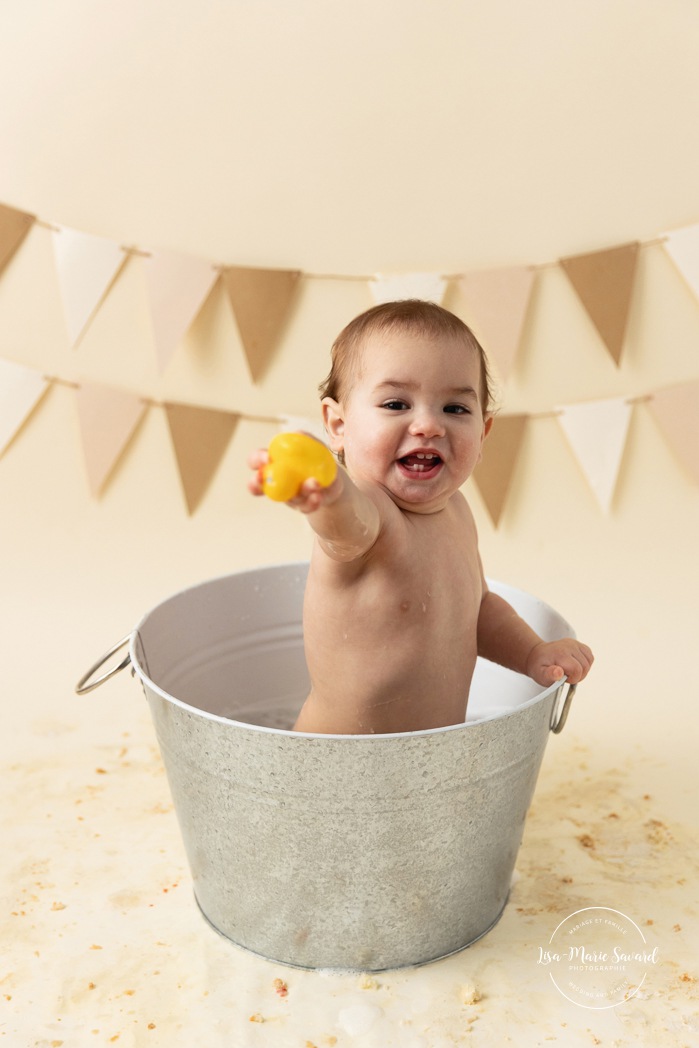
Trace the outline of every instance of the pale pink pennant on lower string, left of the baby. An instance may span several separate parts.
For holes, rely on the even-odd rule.
[[[75,398],[88,482],[96,496],[133,436],[146,405],[132,393],[92,383],[83,384]]]

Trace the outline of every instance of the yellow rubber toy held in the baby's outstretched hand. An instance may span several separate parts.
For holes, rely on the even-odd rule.
[[[264,494],[275,502],[288,502],[312,477],[328,487],[337,475],[337,463],[325,444],[305,433],[279,433],[267,449],[269,461],[260,466]]]

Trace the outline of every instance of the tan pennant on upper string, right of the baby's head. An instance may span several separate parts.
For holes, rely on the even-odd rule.
[[[561,259],[561,265],[616,364],[621,359],[640,244]]]

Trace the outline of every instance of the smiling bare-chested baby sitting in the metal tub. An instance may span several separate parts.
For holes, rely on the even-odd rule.
[[[414,732],[462,723],[476,657],[543,687],[582,680],[577,640],[544,641],[485,583],[461,486],[493,425],[487,366],[441,306],[393,302],[353,320],[321,387],[344,468],[288,505],[315,532],[304,602],[311,690],[294,729]],[[254,453],[258,471],[267,454]],[[258,476],[249,489],[261,495]]]

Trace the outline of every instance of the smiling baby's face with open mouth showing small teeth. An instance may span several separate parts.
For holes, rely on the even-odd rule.
[[[356,483],[378,484],[402,509],[435,512],[473,473],[483,418],[476,350],[410,331],[371,335],[336,422],[324,401],[334,451]]]

